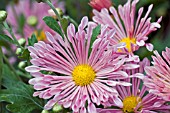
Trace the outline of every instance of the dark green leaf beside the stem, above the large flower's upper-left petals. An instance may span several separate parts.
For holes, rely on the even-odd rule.
[[[64,38],[64,34],[61,30],[60,25],[58,24],[58,22],[50,16],[46,16],[43,18],[44,22],[54,31],[56,31],[60,36],[62,36]]]

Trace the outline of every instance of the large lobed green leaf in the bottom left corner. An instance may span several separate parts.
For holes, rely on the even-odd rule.
[[[6,107],[13,113],[31,113],[33,110],[43,110],[43,101],[33,97],[33,88],[23,82],[0,91],[0,101],[9,102]]]

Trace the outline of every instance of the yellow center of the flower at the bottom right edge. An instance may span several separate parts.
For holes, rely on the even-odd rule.
[[[123,100],[124,113],[133,113],[134,108],[141,102],[141,98],[137,96],[128,96]]]

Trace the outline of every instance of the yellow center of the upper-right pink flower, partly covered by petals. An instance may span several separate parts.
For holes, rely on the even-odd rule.
[[[126,37],[126,38],[123,38],[120,42],[126,43],[126,49],[128,50],[128,52],[132,52],[131,44],[136,44],[136,39]],[[118,52],[121,52],[121,50],[119,49]]]

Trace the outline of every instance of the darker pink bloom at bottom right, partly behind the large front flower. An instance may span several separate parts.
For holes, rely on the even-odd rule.
[[[166,104],[162,98],[148,93],[147,88],[142,86],[142,73],[144,67],[149,64],[147,59],[139,63],[140,68],[129,70],[127,73],[132,78],[124,79],[126,82],[132,83],[132,86],[116,86],[120,99],[110,101],[108,106],[112,108],[98,109],[99,113],[169,113],[170,106]],[[136,77],[135,77],[136,76]]]

